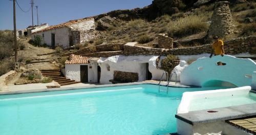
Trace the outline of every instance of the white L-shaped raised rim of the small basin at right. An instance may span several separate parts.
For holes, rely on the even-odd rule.
[[[185,92],[182,95],[180,105],[177,109],[177,114],[189,112],[189,106],[193,99],[215,98],[215,97],[231,97],[231,96],[247,96],[251,90],[250,86],[217,89],[211,91]],[[207,109],[207,108],[205,108]]]

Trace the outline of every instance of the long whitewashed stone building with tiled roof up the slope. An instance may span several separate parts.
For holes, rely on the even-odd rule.
[[[77,20],[70,20],[59,25],[50,26],[31,34],[32,39],[39,35],[42,37],[41,44],[55,48],[61,46],[67,48],[76,43],[82,43],[94,38],[94,18],[88,17]]]

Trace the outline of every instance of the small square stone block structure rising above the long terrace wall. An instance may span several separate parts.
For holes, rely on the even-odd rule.
[[[158,34],[158,47],[164,49],[173,49],[173,38],[168,37],[166,34]]]

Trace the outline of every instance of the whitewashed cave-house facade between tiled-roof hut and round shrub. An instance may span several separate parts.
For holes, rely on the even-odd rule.
[[[101,57],[97,62],[100,65],[100,83],[111,84],[109,80],[113,79],[114,71],[133,72],[139,74],[138,81],[146,80],[146,63],[148,63],[148,70],[152,73],[152,79],[160,79],[163,70],[156,68],[155,55],[139,55],[139,56],[111,56],[108,58]],[[110,67],[108,71],[107,67]],[[164,77],[165,78],[165,77]]]

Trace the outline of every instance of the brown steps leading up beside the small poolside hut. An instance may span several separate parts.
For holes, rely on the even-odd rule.
[[[41,73],[42,76],[51,77],[54,81],[58,82],[60,86],[80,83],[63,77],[60,70],[41,70]]]

